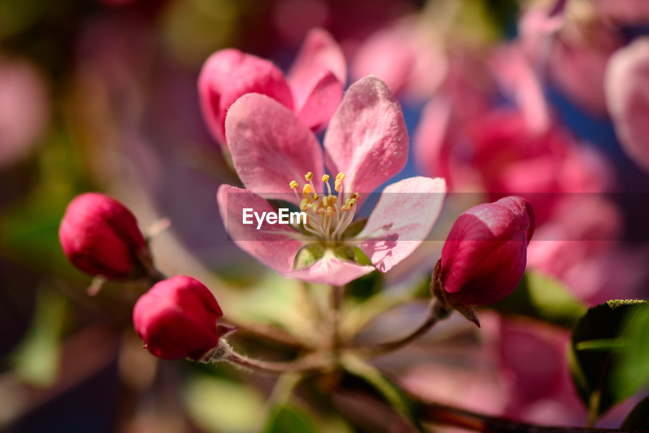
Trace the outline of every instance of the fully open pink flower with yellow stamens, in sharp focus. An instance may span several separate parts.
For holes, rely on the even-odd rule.
[[[219,188],[223,221],[241,249],[286,277],[342,285],[375,268],[386,272],[426,238],[441,210],[444,180],[413,177],[385,188],[358,234],[346,231],[367,194],[408,158],[401,108],[376,77],[347,90],[324,136],[324,155],[291,110],[258,93],[232,105],[225,131],[247,189]],[[323,163],[330,173],[339,173],[334,188]],[[308,214],[308,223],[295,228],[264,223],[260,230],[244,225],[245,208],[275,211],[265,199],[292,201]],[[367,260],[363,255],[373,266],[359,264]]]

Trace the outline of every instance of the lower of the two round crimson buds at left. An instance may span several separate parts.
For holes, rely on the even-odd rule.
[[[155,284],[133,308],[135,330],[158,358],[201,360],[219,344],[223,315],[214,295],[198,280],[178,275]]]

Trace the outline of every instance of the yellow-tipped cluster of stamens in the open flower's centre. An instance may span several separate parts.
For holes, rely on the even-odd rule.
[[[345,180],[345,173],[338,173],[334,181],[334,190],[339,193],[333,195],[329,184],[329,175],[324,175],[322,180],[326,184],[326,195],[315,192],[313,186],[313,173],[310,171],[304,175],[306,184],[302,187],[302,197],[300,200],[300,210],[306,213],[306,222],[302,224],[305,230],[311,232],[325,241],[337,241],[349,227],[354,219],[356,212],[356,203],[360,194],[355,192],[349,197],[344,198],[340,193]],[[291,180],[289,183],[295,196],[300,199],[298,189],[300,184],[297,180]]]

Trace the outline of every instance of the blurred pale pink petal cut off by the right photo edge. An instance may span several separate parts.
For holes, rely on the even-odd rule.
[[[622,149],[649,169],[649,38],[639,38],[611,57],[606,102]]]

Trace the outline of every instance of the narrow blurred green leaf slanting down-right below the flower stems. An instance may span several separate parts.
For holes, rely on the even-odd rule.
[[[383,395],[384,399],[392,406],[398,414],[408,419],[412,425],[420,432],[426,430],[419,422],[417,416],[417,404],[393,384],[387,377],[383,375],[373,365],[367,364],[360,358],[347,354],[341,360],[343,367],[352,375],[363,378],[368,384],[376,388],[376,390]]]

